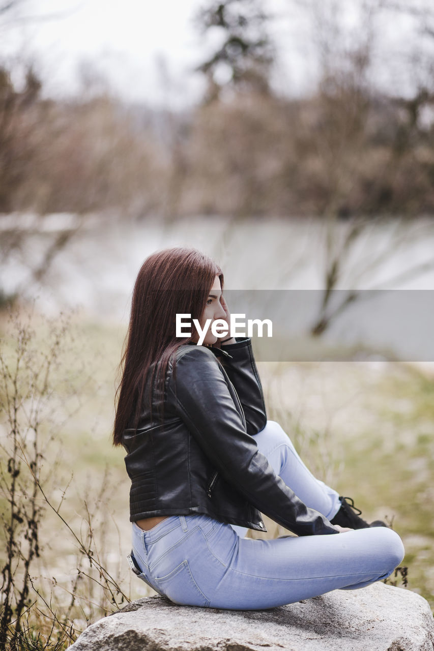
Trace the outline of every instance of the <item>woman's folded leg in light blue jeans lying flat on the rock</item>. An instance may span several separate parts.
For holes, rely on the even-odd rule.
[[[219,541],[212,535],[207,540],[210,551],[218,553]],[[388,577],[404,554],[398,534],[383,527],[274,540],[238,537],[238,541],[224,577],[203,585],[211,607],[261,609],[330,590],[362,588]]]

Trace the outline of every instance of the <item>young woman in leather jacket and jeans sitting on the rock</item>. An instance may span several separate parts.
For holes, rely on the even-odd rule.
[[[267,419],[251,340],[212,334],[229,325],[223,288],[218,265],[182,247],[137,275],[113,431],[132,480],[132,570],[172,602],[243,610],[385,579],[398,534],[358,517]],[[175,336],[177,314],[209,325],[201,345],[194,327]],[[296,535],[244,538],[267,531],[261,513]]]

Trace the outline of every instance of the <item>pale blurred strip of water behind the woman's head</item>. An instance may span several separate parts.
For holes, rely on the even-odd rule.
[[[235,290],[307,292],[325,287],[324,220],[235,221],[207,216],[162,225],[152,219],[132,223],[93,215],[83,220],[65,250],[53,258],[44,282],[35,283],[29,266],[35,266],[50,238],[74,223],[74,215],[48,215],[42,229],[39,226],[34,232],[29,228],[29,219],[29,215],[10,215],[0,220],[3,233],[11,228],[12,221],[14,228],[27,229],[22,249],[2,261],[2,286],[7,292],[18,289],[23,296],[36,298],[38,309],[48,314],[79,307],[90,318],[126,324],[132,288],[143,260],[150,253],[171,246],[196,247],[220,264],[231,312],[240,311],[230,302]],[[336,225],[331,242],[335,251],[349,228],[348,222]],[[377,299],[373,295],[370,306],[366,300],[354,303],[332,322],[326,339],[332,343],[387,346],[405,359],[434,361],[434,221],[420,218],[409,223],[396,219],[372,222],[355,238],[351,249],[341,253],[340,259],[336,287],[341,296],[343,290],[350,289],[412,291],[401,293],[403,298],[395,301],[395,307],[386,294],[380,301],[378,294]],[[424,292],[418,294],[414,290]],[[289,310],[285,314],[283,337],[285,333],[297,337],[308,331],[321,303],[321,292],[315,292],[315,296],[316,303],[298,298],[300,305],[311,303],[310,309]],[[248,312],[246,316],[265,318],[263,314]],[[400,326],[397,331],[393,324]],[[282,323],[280,326],[282,337]],[[272,355],[268,352],[264,359],[274,359]]]

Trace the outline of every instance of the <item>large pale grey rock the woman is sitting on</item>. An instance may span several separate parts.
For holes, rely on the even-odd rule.
[[[262,611],[175,605],[159,595],[89,626],[71,651],[433,651],[418,594],[384,583]]]

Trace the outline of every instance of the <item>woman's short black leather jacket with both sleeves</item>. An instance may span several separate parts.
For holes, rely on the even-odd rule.
[[[251,436],[267,423],[251,339],[222,350],[183,344],[175,354],[175,374],[172,359],[166,374],[164,432],[147,404],[136,430],[124,430],[130,521],[201,513],[267,531],[262,512],[299,536],[337,533],[274,473]],[[154,400],[155,393],[152,416]]]

